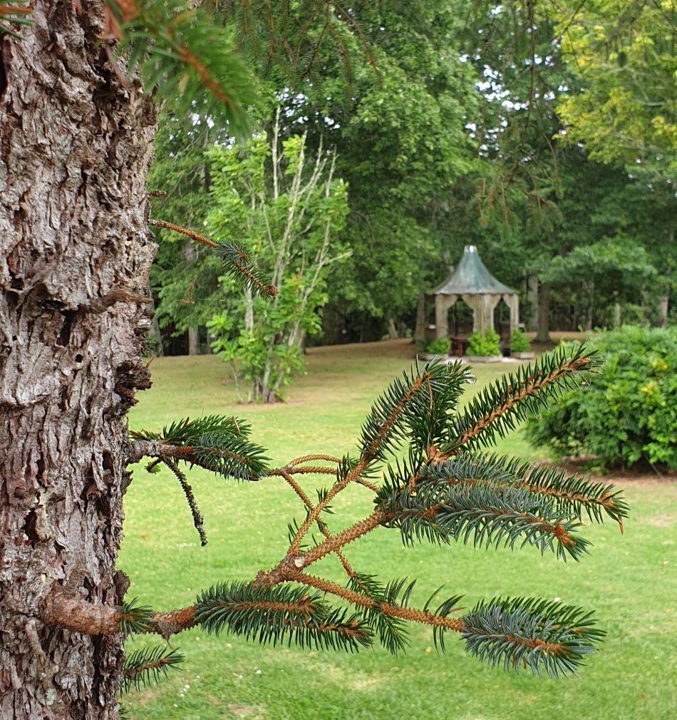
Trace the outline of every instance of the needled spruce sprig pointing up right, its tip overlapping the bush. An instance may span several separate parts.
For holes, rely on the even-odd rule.
[[[494,444],[496,434],[504,437],[529,413],[547,407],[547,401],[558,399],[564,390],[577,387],[576,378],[594,372],[598,366],[596,355],[586,355],[581,345],[558,348],[533,365],[521,366],[516,374],[504,374],[460,415],[455,439],[445,446],[443,454]]]

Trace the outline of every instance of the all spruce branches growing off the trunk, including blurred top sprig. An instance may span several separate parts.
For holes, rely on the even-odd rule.
[[[242,8],[251,5],[242,3]],[[319,1],[307,5],[316,10],[340,7]],[[252,99],[253,83],[233,49],[235,40],[226,24],[208,17],[209,7],[217,4],[119,0],[110,6],[109,40],[123,41],[119,60],[127,70],[141,68],[147,91],[157,90],[160,96],[182,94],[189,107],[227,122],[232,132],[246,131],[243,107]],[[9,7],[0,4],[2,32],[9,31],[5,16],[16,24],[22,15],[16,9],[9,14]],[[210,32],[217,32],[221,43],[212,45],[214,35],[206,32],[209,22]],[[219,49],[198,53],[207,39]],[[273,33],[273,55],[275,47]],[[198,102],[194,98],[201,96],[199,89],[209,90],[210,99],[196,107],[191,103]],[[256,273],[245,248],[217,246],[197,233],[178,231],[218,251],[229,271],[250,287],[274,294]],[[581,536],[583,516],[594,522],[609,517],[622,528],[627,507],[619,493],[611,486],[480,451],[529,413],[556,400],[562,390],[585,379],[596,365],[596,358],[583,347],[569,354],[555,351],[506,374],[468,408],[459,410],[465,385],[474,382],[468,367],[417,362],[375,402],[355,454],[342,458],[309,454],[282,467],[270,467],[265,449],[252,439],[253,428],[234,417],[185,418],[161,431],[135,431],[127,462],[148,458],[149,472],[160,463],[171,469],[183,487],[203,543],[203,518],[186,480],[194,466],[224,480],[286,482],[299,498],[304,519],[291,521],[288,550],[275,567],[260,570],[249,582],[224,579],[201,592],[187,608],[159,613],[130,600],[109,613],[107,606],[91,606],[55,590],[45,611],[48,621],[91,635],[156,633],[165,640],[201,626],[211,633],[229,632],[260,643],[349,652],[378,641],[393,653],[408,644],[409,624],[419,623],[432,627],[442,651],[447,634],[453,632],[469,653],[491,665],[526,667],[555,677],[576,672],[603,636],[588,611],[536,598],[494,598],[463,612],[460,595],[438,598],[440,591],[422,608],[414,608],[410,603],[414,580],[365,575],[353,568],[346,548],[379,530],[398,532],[405,544],[472,541],[478,548],[535,546],[563,561],[581,559],[589,549]],[[317,500],[311,500],[302,486],[309,474],[327,479]],[[332,502],[350,485],[371,493],[373,510],[357,523],[334,529],[330,523],[338,526],[340,518],[332,514]],[[318,540],[312,536],[315,526],[321,534]],[[345,570],[345,584],[309,572],[330,555]],[[164,647],[131,654],[124,670],[127,687],[160,679],[180,662],[178,652]]]

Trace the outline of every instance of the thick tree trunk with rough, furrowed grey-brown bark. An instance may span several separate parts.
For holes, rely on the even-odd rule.
[[[126,589],[155,113],[109,65],[100,1],[32,6],[24,40],[0,36],[0,717],[114,719],[122,637],[41,618],[55,586]]]

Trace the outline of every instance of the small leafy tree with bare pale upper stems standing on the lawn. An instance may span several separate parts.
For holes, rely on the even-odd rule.
[[[335,153],[320,147],[309,156],[305,135],[281,140],[279,114],[270,140],[261,135],[244,153],[219,145],[210,155],[209,229],[241,238],[279,291],[268,300],[246,287],[235,312],[209,322],[214,349],[232,363],[236,382],[241,374],[249,384],[247,400],[263,402],[279,399],[302,369],[304,339],[319,332],[327,302],[327,272],[350,255],[337,242],[347,204]],[[232,283],[224,284],[232,291]]]

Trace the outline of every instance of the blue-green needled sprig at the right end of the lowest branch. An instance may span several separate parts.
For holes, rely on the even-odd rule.
[[[604,637],[591,613],[535,598],[496,598],[463,617],[465,649],[504,670],[519,665],[534,675],[576,675],[584,657]],[[440,642],[442,634],[436,633]]]

